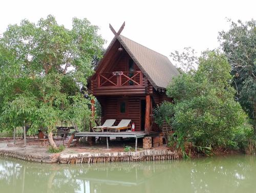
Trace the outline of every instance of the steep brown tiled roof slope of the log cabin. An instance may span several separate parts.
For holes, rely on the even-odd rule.
[[[178,70],[166,56],[122,35],[117,39],[155,89],[165,89],[173,77],[179,75]]]

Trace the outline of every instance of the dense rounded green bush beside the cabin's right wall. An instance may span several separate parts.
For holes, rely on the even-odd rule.
[[[244,122],[245,114],[234,101],[226,57],[211,51],[199,61],[195,73],[183,73],[168,85],[166,94],[174,104],[162,103],[155,116],[158,124],[159,119],[165,119],[163,115],[170,116],[177,147],[184,149],[184,143],[189,141],[200,151],[207,147],[206,151],[208,147],[227,145],[233,131]]]

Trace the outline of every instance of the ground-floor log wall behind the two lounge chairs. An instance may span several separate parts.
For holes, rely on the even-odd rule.
[[[122,100],[127,103],[125,115],[119,113],[119,101]],[[135,123],[135,130],[141,131],[140,97],[102,97],[99,101],[102,106],[102,123],[106,119],[116,119],[117,124],[121,119],[131,119]]]

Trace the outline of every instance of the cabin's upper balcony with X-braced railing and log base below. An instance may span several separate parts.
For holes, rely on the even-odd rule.
[[[93,95],[143,95],[147,79],[141,71],[97,73],[91,82]]]

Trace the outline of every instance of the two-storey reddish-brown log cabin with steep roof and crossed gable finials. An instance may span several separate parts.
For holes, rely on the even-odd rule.
[[[89,89],[101,105],[102,123],[131,119],[135,131],[156,132],[153,109],[172,100],[165,91],[179,72],[166,56],[120,35],[123,27],[116,32],[110,25],[115,37],[98,62]]]

